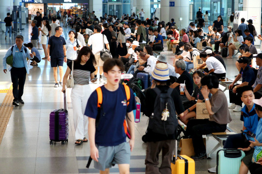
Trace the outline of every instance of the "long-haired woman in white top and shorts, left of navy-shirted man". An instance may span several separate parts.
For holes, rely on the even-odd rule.
[[[43,49],[44,49],[44,53],[45,53],[45,58],[46,59],[48,57],[47,54],[47,35],[51,35],[51,26],[49,25],[49,21],[48,20],[44,20],[43,21],[43,27],[42,28],[38,28],[39,31],[41,31],[41,41],[40,44],[42,44]]]

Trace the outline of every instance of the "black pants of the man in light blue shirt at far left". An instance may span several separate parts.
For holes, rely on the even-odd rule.
[[[13,83],[13,95],[15,98],[14,101],[22,99],[26,80],[26,68],[13,67],[11,69],[11,80]]]

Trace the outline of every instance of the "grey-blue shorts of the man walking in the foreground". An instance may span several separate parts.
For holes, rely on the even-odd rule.
[[[121,143],[115,146],[99,146],[98,162],[94,160],[94,168],[100,171],[105,171],[111,168],[112,164],[130,164],[130,145],[128,142]]]

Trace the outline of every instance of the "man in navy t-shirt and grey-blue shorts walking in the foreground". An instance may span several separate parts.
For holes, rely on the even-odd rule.
[[[119,85],[124,64],[118,59],[104,62],[103,71],[107,84],[101,87],[102,104],[99,119],[98,92],[95,90],[88,99],[85,116],[88,116],[88,135],[90,156],[96,169],[109,173],[112,164],[118,164],[120,173],[129,173],[130,156],[134,147],[135,98],[130,89],[130,100],[127,101],[125,87]],[[126,142],[123,123],[126,116],[130,129],[130,141]]]

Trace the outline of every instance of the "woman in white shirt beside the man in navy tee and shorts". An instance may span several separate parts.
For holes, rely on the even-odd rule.
[[[69,39],[66,40],[67,64],[77,58],[77,50],[80,50],[81,49],[80,47],[82,47],[81,43],[79,43],[77,39],[75,39],[74,31],[69,31],[68,36]],[[77,47],[77,43],[79,44],[79,47]]]

